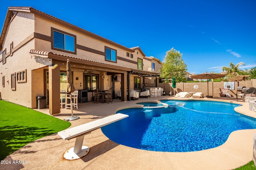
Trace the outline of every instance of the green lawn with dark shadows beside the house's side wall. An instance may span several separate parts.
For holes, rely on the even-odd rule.
[[[30,142],[70,125],[67,121],[0,100],[0,160]]]

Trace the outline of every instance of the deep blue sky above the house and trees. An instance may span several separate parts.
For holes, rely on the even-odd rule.
[[[31,6],[160,61],[174,47],[191,73],[256,66],[256,0],[3,1],[1,30],[9,6]]]

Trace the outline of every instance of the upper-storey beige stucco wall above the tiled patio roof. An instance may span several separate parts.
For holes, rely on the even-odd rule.
[[[72,35],[76,35],[76,43],[78,45],[89,47],[91,49],[95,49],[95,50],[98,50],[101,52],[105,52],[105,46],[107,46],[112,49],[116,49],[117,50],[116,54],[118,57],[123,57],[124,59],[129,59],[130,61],[135,61],[135,62],[138,61],[138,57],[143,58],[141,53],[138,53],[138,54],[134,53],[134,58],[126,57],[126,52],[131,53],[130,51],[126,51],[120,47],[117,47],[117,46],[107,43],[105,41],[101,41],[100,39],[96,39],[94,37],[83,34],[79,31],[75,31],[74,29],[71,29],[69,27],[64,27],[63,25],[60,25],[59,23],[52,22],[50,20],[46,20],[45,18],[42,18],[40,16],[36,16],[35,21],[36,21],[35,22],[36,23],[35,24],[35,32],[36,33],[51,36],[51,27],[54,27],[61,31],[65,31]],[[36,49],[38,49],[38,50],[52,51],[54,53],[58,53],[61,55],[68,55],[71,57],[77,57],[77,58],[81,58],[81,59],[87,59],[87,60],[92,60],[92,61],[97,61],[97,62],[102,62],[102,63],[108,63],[108,64],[117,65],[117,66],[138,68],[137,64],[128,63],[128,62],[122,61],[122,60],[117,60],[117,63],[105,61],[104,55],[98,55],[96,53],[91,53],[91,52],[80,50],[80,49],[77,49],[76,55],[72,54],[72,53],[57,51],[57,50],[51,49],[51,43],[49,41],[43,41],[43,40],[36,40],[36,41],[37,41]]]

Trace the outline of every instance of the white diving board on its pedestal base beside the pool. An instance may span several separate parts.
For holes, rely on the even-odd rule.
[[[106,126],[115,121],[119,121],[128,117],[128,115],[117,113],[108,117],[104,117],[102,119],[98,119],[96,121],[91,121],[89,123],[85,123],[83,125],[79,125],[76,127],[72,127],[70,129],[66,129],[64,131],[58,132],[58,135],[62,137],[64,140],[69,140],[76,138],[75,146],[67,150],[64,154],[64,158],[68,160],[79,159],[88,154],[89,147],[82,146],[84,141],[84,135],[94,131],[100,127]]]

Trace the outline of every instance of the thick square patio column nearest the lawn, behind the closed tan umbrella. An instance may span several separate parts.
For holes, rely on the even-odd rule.
[[[60,113],[60,66],[54,69],[49,66],[49,113]]]

